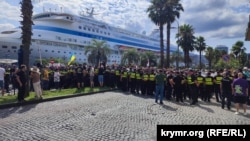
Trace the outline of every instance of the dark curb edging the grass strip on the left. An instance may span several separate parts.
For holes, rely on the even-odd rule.
[[[31,104],[38,104],[42,102],[47,102],[47,101],[54,101],[54,100],[60,100],[60,99],[66,99],[66,98],[73,98],[73,97],[78,97],[78,96],[85,96],[85,95],[91,95],[91,94],[97,94],[97,93],[104,93],[104,92],[109,92],[109,91],[115,91],[117,90],[116,88],[114,89],[109,89],[109,90],[103,90],[103,91],[98,91],[98,92],[90,92],[90,93],[76,93],[73,95],[66,95],[66,96],[58,96],[58,97],[52,97],[52,98],[46,98],[42,100],[31,100],[23,103],[7,103],[7,104],[2,104],[0,105],[0,109],[6,109],[6,108],[12,108],[12,107],[20,107],[20,106],[25,106],[25,105],[31,105]]]

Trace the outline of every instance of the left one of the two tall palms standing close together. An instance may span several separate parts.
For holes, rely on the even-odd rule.
[[[163,25],[167,22],[165,17],[164,3],[166,0],[151,0],[151,5],[148,7],[147,12],[151,21],[159,26],[160,30],[160,67],[163,68],[164,64],[164,45],[163,45]]]

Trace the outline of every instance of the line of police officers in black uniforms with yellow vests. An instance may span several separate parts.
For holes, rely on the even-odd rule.
[[[95,86],[98,86],[98,69],[99,68],[95,68]],[[88,77],[85,70],[87,70],[88,73],[89,69],[85,67],[83,70],[83,74]],[[117,87],[124,92],[130,92],[132,94],[154,95],[155,76],[157,71],[156,68],[148,67],[107,66],[105,67],[104,73],[104,85],[113,88]],[[68,72],[71,74],[69,78],[74,78],[76,70],[71,68]],[[190,104],[196,104],[198,98],[210,102],[213,95],[215,95],[217,102],[222,100],[220,87],[224,77],[222,76],[222,70],[218,71],[215,76],[211,76],[213,72],[207,72],[206,76],[204,76],[201,72],[195,70],[172,71],[163,69],[163,72],[166,75],[164,93],[167,100],[175,99],[177,102],[183,102],[183,100],[189,98],[191,99]],[[229,77],[231,80],[237,76],[237,73],[235,73],[235,75],[232,73],[230,74]],[[68,79],[65,80],[67,82]],[[84,80],[84,86],[88,86],[89,80],[86,78]],[[250,86],[250,76],[247,77],[247,80]]]

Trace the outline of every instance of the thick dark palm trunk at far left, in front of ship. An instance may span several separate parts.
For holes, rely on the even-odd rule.
[[[22,0],[20,2],[21,5],[21,17],[22,21],[20,21],[21,29],[22,29],[22,45],[20,46],[22,63],[27,66],[29,69],[29,56],[30,56],[30,44],[31,44],[31,36],[32,36],[32,14],[33,14],[33,5],[31,0]],[[19,65],[21,65],[19,63]],[[28,72],[26,74],[26,79],[29,80]],[[29,82],[29,81],[28,81]],[[29,95],[29,83],[26,84],[25,96]]]

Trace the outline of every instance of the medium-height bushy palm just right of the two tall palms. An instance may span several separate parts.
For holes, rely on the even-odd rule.
[[[177,44],[182,48],[184,52],[184,63],[185,67],[189,67],[189,51],[194,50],[194,29],[189,24],[184,24],[180,26],[179,33],[177,34],[178,40]]]

